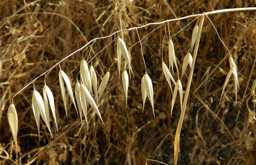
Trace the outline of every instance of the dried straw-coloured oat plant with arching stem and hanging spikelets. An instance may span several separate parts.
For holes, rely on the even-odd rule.
[[[180,114],[180,117],[179,117],[179,122],[178,122],[178,125],[177,125],[177,130],[176,130],[175,138],[174,138],[174,163],[176,165],[177,161],[178,161],[178,153],[179,153],[180,132],[181,132],[182,124],[183,124],[183,121],[184,121],[185,110],[186,110],[187,101],[188,101],[188,97],[189,97],[191,81],[192,81],[192,78],[193,78],[193,72],[194,72],[194,69],[195,69],[195,61],[196,61],[196,58],[197,58],[198,47],[199,47],[199,43],[200,43],[200,36],[201,36],[201,32],[202,32],[202,27],[203,27],[203,24],[204,24],[204,19],[208,18],[207,15],[212,15],[212,14],[217,14],[217,13],[222,13],[222,12],[231,12],[231,11],[244,11],[244,10],[256,10],[256,8],[237,8],[237,9],[216,10],[216,11],[206,12],[206,13],[203,13],[203,14],[190,15],[190,16],[183,17],[183,18],[165,20],[163,22],[148,23],[148,24],[140,26],[140,27],[130,28],[130,29],[126,29],[126,30],[119,30],[119,31],[116,31],[116,32],[108,35],[108,36],[95,38],[95,39],[89,41],[86,45],[84,45],[81,48],[79,48],[78,50],[76,50],[75,52],[71,53],[67,57],[65,57],[62,60],[60,60],[59,62],[57,62],[57,64],[53,65],[45,73],[42,73],[39,77],[35,78],[33,81],[28,83],[24,88],[22,88],[19,92],[17,92],[13,96],[13,99],[17,94],[19,94],[21,91],[23,91],[31,83],[34,83],[37,79],[44,76],[45,74],[46,74],[45,75],[45,77],[46,77],[47,74],[53,68],[55,68],[59,65],[59,84],[60,84],[61,95],[62,95],[64,109],[65,109],[67,118],[68,118],[68,105],[67,105],[67,103],[69,101],[67,101],[67,98],[66,98],[66,90],[67,90],[67,93],[68,93],[68,95],[69,95],[69,97],[72,101],[72,104],[74,105],[74,108],[76,109],[77,114],[80,115],[81,122],[82,122],[82,114],[84,115],[85,120],[86,120],[86,124],[87,124],[87,129],[89,128],[89,124],[88,124],[89,119],[87,117],[88,113],[89,113],[89,106],[93,110],[93,113],[97,114],[98,118],[101,120],[102,124],[104,125],[104,122],[103,122],[104,118],[102,118],[101,111],[100,111],[98,106],[101,102],[101,99],[106,97],[106,96],[103,95],[103,93],[108,90],[107,85],[108,85],[108,81],[110,79],[110,75],[114,75],[114,73],[112,74],[110,72],[114,72],[113,71],[114,69],[111,69],[111,67],[112,67],[113,64],[115,64],[115,60],[113,61],[113,64],[110,66],[109,70],[105,73],[105,75],[101,79],[101,83],[100,83],[99,87],[98,87],[98,84],[97,84],[97,80],[98,80],[97,77],[99,78],[100,75],[97,75],[94,68],[92,67],[92,65],[93,65],[92,60],[93,60],[94,57],[96,58],[97,55],[101,51],[104,51],[104,49],[108,45],[105,46],[104,48],[102,48],[102,50],[99,53],[97,53],[91,59],[91,61],[85,60],[83,58],[81,59],[80,70],[77,73],[78,78],[77,78],[76,84],[75,85],[73,84],[74,86],[72,86],[72,81],[70,81],[71,79],[68,77],[69,74],[67,75],[63,70],[61,70],[60,64],[61,64],[61,62],[63,62],[67,58],[69,58],[70,56],[72,56],[72,55],[76,54],[77,52],[83,50],[84,48],[88,47],[89,44],[94,43],[95,41],[98,41],[98,40],[101,40],[101,39],[104,39],[104,38],[113,37],[114,35],[119,34],[119,32],[122,32],[122,35],[124,35],[123,32],[129,32],[129,31],[132,31],[132,30],[134,32],[136,30],[136,33],[137,33],[137,36],[138,36],[138,39],[139,39],[139,41],[137,43],[140,43],[142,58],[143,58],[144,66],[145,66],[145,73],[144,73],[143,76],[141,75],[141,96],[142,96],[142,100],[143,100],[142,113],[143,113],[143,110],[144,110],[146,98],[148,97],[148,99],[150,100],[150,104],[152,106],[152,109],[153,109],[153,115],[155,117],[154,90],[153,90],[152,77],[150,75],[150,72],[147,72],[147,67],[146,67],[145,59],[144,59],[144,56],[143,56],[143,50],[142,50],[144,45],[141,42],[143,39],[145,39],[146,36],[143,37],[142,39],[140,39],[140,35],[139,35],[137,29],[148,27],[148,26],[153,25],[153,24],[162,26],[165,23],[169,23],[169,22],[172,22],[172,21],[178,21],[178,20],[187,19],[187,18],[196,18],[195,21],[197,21],[197,22],[196,22],[196,25],[195,25],[195,27],[193,29],[193,32],[192,32],[191,44],[190,44],[190,46],[187,50],[188,53],[186,54],[186,56],[183,60],[181,76],[179,75],[179,73],[180,73],[179,72],[179,67],[178,67],[179,63],[177,62],[177,59],[176,59],[176,56],[175,56],[175,42],[172,40],[171,36],[169,36],[169,39],[168,39],[168,63],[169,63],[169,68],[167,67],[168,64],[167,65],[165,64],[164,58],[163,58],[163,55],[162,55],[163,74],[164,74],[165,79],[167,80],[167,82],[169,84],[169,87],[170,87],[170,89],[172,91],[172,94],[173,94],[173,96],[172,96],[172,105],[171,105],[171,110],[170,110],[170,115],[171,116],[172,116],[172,111],[173,111],[173,108],[174,108],[174,104],[175,104],[178,92],[179,92],[179,99],[180,99],[179,104],[180,104],[181,114]],[[169,29],[169,26],[168,26],[168,29]],[[131,47],[130,48],[126,47],[125,41],[123,39],[121,39],[120,36],[117,36],[112,42],[116,42],[116,45],[117,45],[116,46],[116,48],[117,48],[116,49],[117,50],[117,55],[116,55],[117,66],[115,66],[115,67],[118,70],[120,81],[121,81],[121,78],[120,78],[121,67],[123,69],[121,84],[123,85],[124,97],[125,97],[126,106],[127,106],[127,97],[129,95],[129,90],[128,90],[129,89],[129,76],[128,76],[128,73],[126,71],[126,67],[128,65],[128,71],[129,71],[130,79],[132,81],[131,73],[132,73],[132,75],[135,74],[132,70],[133,65],[131,64],[131,61],[132,61],[132,58],[133,58],[133,52],[131,52],[131,49],[130,49]],[[221,42],[222,42],[222,40],[221,40]],[[137,44],[137,43],[135,43],[135,44]],[[223,45],[225,46],[224,43],[223,43]],[[228,50],[228,48],[227,48],[227,50]],[[228,50],[228,52],[229,52],[229,50]],[[192,56],[192,54],[193,54],[193,56]],[[122,58],[125,61],[124,65],[122,65],[122,62],[121,62]],[[88,59],[89,59],[89,57],[88,57]],[[90,64],[90,62],[92,62],[92,65],[89,69],[88,64]],[[221,97],[222,97],[222,95],[225,96],[225,88],[226,88],[226,86],[227,86],[227,84],[230,80],[231,75],[233,75],[233,77],[234,77],[234,89],[235,89],[236,99],[237,99],[237,90],[239,88],[238,68],[237,68],[230,52],[229,52],[229,64],[230,64],[230,70],[228,71],[226,81],[223,84],[223,90],[222,90],[222,93],[221,93]],[[159,65],[161,65],[161,64],[159,64]],[[180,78],[182,78],[185,75],[188,65],[190,66],[188,79],[184,80],[185,78],[183,78],[184,81],[181,81]],[[176,70],[174,70],[174,67],[176,68]],[[2,76],[1,73],[2,73],[2,63],[0,61],[0,77]],[[177,80],[174,79],[175,73],[177,73]],[[79,81],[79,77],[80,77],[80,81]],[[65,82],[65,84],[64,84],[64,82]],[[184,94],[184,97],[183,97],[183,86],[185,84],[182,85],[182,83],[184,83],[184,82],[186,84],[186,91],[185,91],[185,94]],[[174,90],[172,89],[172,84],[175,86]],[[65,85],[66,85],[66,87],[65,87]],[[253,91],[255,90],[255,86],[256,85],[254,84]],[[75,92],[73,92],[73,91],[75,91]],[[39,92],[36,91],[35,87],[34,87],[33,96],[32,96],[32,109],[33,109],[35,121],[36,121],[36,124],[37,124],[39,139],[40,139],[40,126],[39,126],[40,116],[43,119],[51,137],[53,138],[53,135],[51,133],[51,126],[50,126],[49,105],[50,105],[50,108],[51,108],[51,112],[53,114],[55,126],[58,130],[58,120],[59,119],[55,115],[55,103],[54,103],[55,102],[54,101],[54,95],[55,94],[51,92],[50,88],[46,85],[46,83],[44,85],[42,93],[43,93],[43,97],[41,96],[40,91]],[[93,95],[93,93],[94,93],[94,95]],[[75,95],[75,98],[74,98],[74,95]],[[251,95],[253,97],[255,97],[255,93],[252,92]],[[12,135],[13,135],[14,143],[15,143],[15,146],[16,146],[16,151],[18,152],[18,150],[17,150],[18,115],[17,115],[17,111],[15,109],[13,99],[12,99],[12,102],[11,102],[9,108],[8,108],[8,111],[7,111],[7,118],[8,118],[10,129],[11,129],[11,132],[12,132]],[[78,110],[77,110],[77,106],[78,106]],[[148,160],[150,160],[150,159],[148,159]]]

